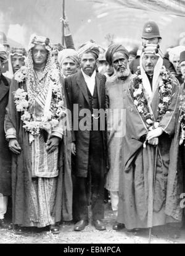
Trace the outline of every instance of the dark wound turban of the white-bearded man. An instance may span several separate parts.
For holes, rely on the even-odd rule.
[[[129,53],[127,49],[123,45],[118,45],[118,44],[112,44],[109,46],[109,48],[106,51],[105,58],[106,61],[109,62],[110,65],[112,65],[112,58],[113,54],[115,53],[122,53],[125,55],[126,59],[129,57]]]

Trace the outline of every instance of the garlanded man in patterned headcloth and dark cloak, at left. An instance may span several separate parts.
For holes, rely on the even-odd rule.
[[[13,153],[12,207],[17,234],[31,226],[49,226],[57,234],[62,217],[72,220],[70,170],[62,169],[63,159],[69,163],[70,151],[62,154],[59,147],[60,143],[65,151],[64,79],[51,58],[49,38],[33,36],[27,65],[15,73],[10,85],[5,129]],[[63,195],[65,188],[68,191]]]

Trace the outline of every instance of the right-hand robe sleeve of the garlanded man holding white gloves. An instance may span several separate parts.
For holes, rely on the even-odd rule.
[[[175,125],[177,121],[178,109],[179,109],[179,95],[180,87],[178,81],[173,80],[172,88],[172,100],[171,103],[163,116],[162,120],[159,122],[159,127],[163,129],[168,135],[173,135],[175,133]]]

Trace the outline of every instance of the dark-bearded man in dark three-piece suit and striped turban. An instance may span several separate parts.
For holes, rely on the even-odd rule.
[[[108,168],[104,116],[106,78],[96,72],[99,48],[95,43],[84,44],[78,53],[81,70],[65,79],[68,108],[72,111],[72,153],[75,155],[74,229],[81,231],[88,225],[91,203],[92,224],[96,229],[105,230],[102,219],[104,177]]]

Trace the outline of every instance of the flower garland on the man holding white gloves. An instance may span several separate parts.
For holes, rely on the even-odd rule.
[[[140,69],[136,72],[136,77],[133,79],[133,98],[134,105],[138,109],[142,120],[145,122],[147,129],[152,130],[158,127],[159,122],[162,120],[163,116],[167,112],[168,106],[171,103],[172,95],[172,85],[171,82],[174,80],[173,75],[171,75],[169,70],[162,67],[160,72],[162,76],[162,83],[159,84],[159,95],[160,102],[158,104],[158,117],[157,121],[154,120],[153,114],[150,113],[149,103],[144,94],[144,87],[142,85],[142,76]]]

